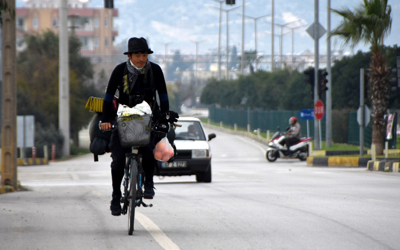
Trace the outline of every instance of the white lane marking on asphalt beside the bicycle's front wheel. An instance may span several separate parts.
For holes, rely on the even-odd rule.
[[[180,250],[168,236],[162,232],[162,230],[152,221],[150,218],[142,214],[141,212],[135,212],[135,218],[140,224],[153,236],[154,240],[160,244],[165,250]]]

